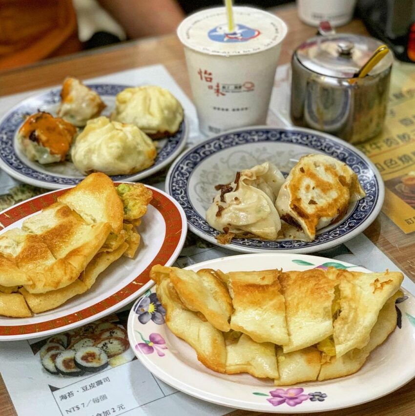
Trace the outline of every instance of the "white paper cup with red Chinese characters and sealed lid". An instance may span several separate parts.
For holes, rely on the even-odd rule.
[[[234,7],[233,14],[232,33],[225,7],[190,15],[177,29],[205,134],[265,123],[287,34],[286,24],[263,10]]]

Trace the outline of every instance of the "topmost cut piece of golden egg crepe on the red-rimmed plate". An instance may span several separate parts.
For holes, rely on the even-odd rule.
[[[78,213],[87,224],[109,222],[115,234],[123,229],[123,203],[107,175],[94,173],[86,176],[75,188],[58,197],[58,201]]]

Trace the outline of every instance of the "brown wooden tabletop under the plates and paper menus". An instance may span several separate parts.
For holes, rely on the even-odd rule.
[[[316,29],[300,22],[294,6],[275,8],[274,12],[287,22],[289,32],[284,41],[280,64],[290,62],[296,46],[313,36]],[[339,32],[367,34],[359,20],[338,29]],[[36,65],[0,73],[0,95],[60,84],[67,75],[81,79],[110,74],[139,66],[163,64],[181,88],[191,96],[183,47],[176,36],[148,38],[141,41],[86,51],[63,58],[42,61]],[[415,236],[405,235],[384,214],[380,214],[366,230],[368,236],[395,264],[415,281]],[[413,351],[408,351],[413,353]],[[370,386],[362,386],[370,388]],[[324,412],[325,416],[414,416],[415,380],[393,395],[349,409]],[[345,392],[347,393],[347,392]],[[16,415],[16,411],[0,377],[0,415]],[[235,411],[232,415],[260,415]],[[293,415],[293,414],[291,414]],[[298,415],[298,414],[296,414]],[[318,413],[315,415],[323,415]],[[31,415],[32,416],[32,415]],[[36,415],[33,415],[36,416]]]

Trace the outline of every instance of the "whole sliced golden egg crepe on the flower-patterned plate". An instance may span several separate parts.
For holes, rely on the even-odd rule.
[[[396,327],[403,280],[399,272],[334,267],[224,273],[155,265],[150,277],[167,327],[199,361],[221,373],[273,378],[277,386],[358,371]],[[228,312],[218,313],[226,296],[216,287],[231,299],[229,328]]]

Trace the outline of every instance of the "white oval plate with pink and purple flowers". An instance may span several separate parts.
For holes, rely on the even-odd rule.
[[[260,266],[259,266],[260,265]],[[210,260],[186,267],[223,271],[311,268],[367,269],[324,257],[286,253],[249,254]],[[372,351],[355,374],[322,382],[274,387],[272,380],[249,374],[226,375],[201,364],[195,351],[165,325],[166,311],[154,287],[133,306],[128,317],[128,338],[138,359],[156,377],[200,399],[257,412],[311,413],[341,409],[392,393],[415,376],[415,298],[405,292],[397,299],[398,323],[383,345]]]

